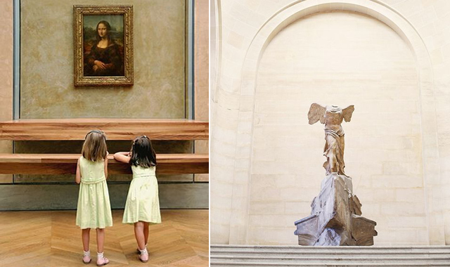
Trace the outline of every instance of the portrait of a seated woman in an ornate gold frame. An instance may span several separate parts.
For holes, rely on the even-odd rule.
[[[133,6],[73,6],[75,86],[131,86]]]

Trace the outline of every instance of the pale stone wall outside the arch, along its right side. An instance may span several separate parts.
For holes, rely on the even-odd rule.
[[[430,53],[433,68],[437,110],[437,138],[439,141],[440,178],[428,193],[436,205],[435,214],[442,214],[445,243],[450,245],[450,2],[386,1],[408,18],[416,27]],[[430,239],[442,235],[439,231],[430,233]]]

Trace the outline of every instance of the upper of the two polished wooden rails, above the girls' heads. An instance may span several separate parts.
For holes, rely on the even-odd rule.
[[[191,119],[18,119],[0,122],[0,140],[72,141],[99,129],[108,140],[208,140],[209,123]]]

